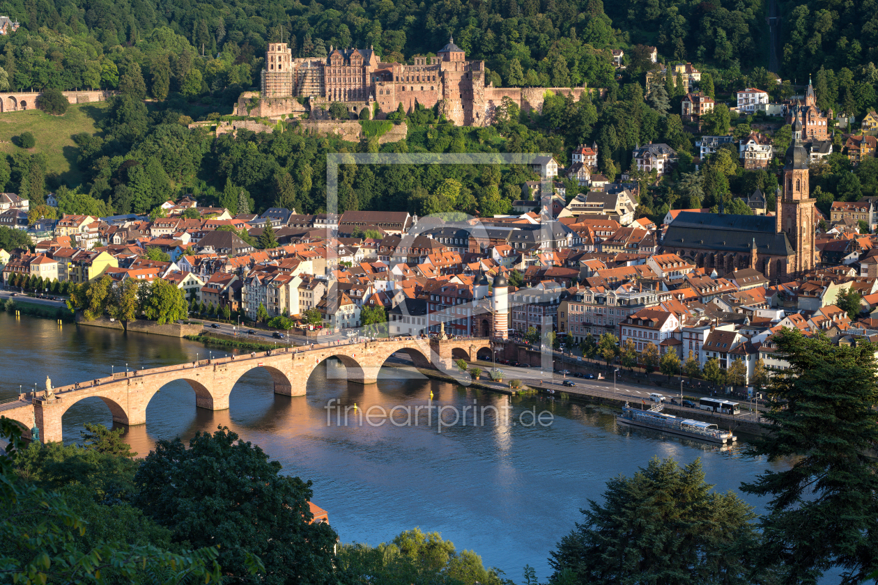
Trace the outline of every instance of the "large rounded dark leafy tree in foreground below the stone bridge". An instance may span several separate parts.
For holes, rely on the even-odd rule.
[[[281,474],[262,449],[220,428],[198,432],[186,448],[161,440],[134,476],[134,503],[172,538],[219,547],[224,574],[241,580],[263,560],[264,583],[323,583],[333,572],[337,536],[312,524],[311,482]]]

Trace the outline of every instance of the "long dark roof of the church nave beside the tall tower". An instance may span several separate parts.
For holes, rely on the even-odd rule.
[[[758,253],[788,256],[793,246],[786,233],[774,231],[774,221],[766,216],[683,211],[667,228],[662,243],[666,247],[749,252],[755,240]]]

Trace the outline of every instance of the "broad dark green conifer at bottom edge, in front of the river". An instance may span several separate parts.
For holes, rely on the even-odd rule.
[[[553,581],[617,583],[750,583],[757,547],[752,507],[704,482],[701,460],[678,467],[653,458],[633,477],[607,482],[603,504],[589,500],[585,521],[558,543]]]

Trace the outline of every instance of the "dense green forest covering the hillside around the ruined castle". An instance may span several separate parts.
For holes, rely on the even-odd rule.
[[[644,187],[641,216],[720,203],[746,212],[736,197],[756,188],[773,205],[776,178],[770,171],[777,165],[769,172],[745,171],[732,164],[734,153],[721,152],[696,171],[696,129],[677,115],[682,89],[673,79],[644,87],[645,71],[655,67],[644,47],[658,46],[660,60],[694,61],[704,74],[700,89],[720,101],[751,84],[775,98],[795,91],[789,82],[778,85],[764,67],[766,47],[758,39],[765,38],[766,3],[759,0],[0,4],[0,13],[22,23],[0,37],[0,88],[121,93],[99,132],[73,137],[80,184],[65,184],[41,153],[19,147],[0,157],[4,189],[32,199],[32,207],[47,214],[52,211],[41,203],[50,190],[61,201],[59,211],[68,213],[148,214],[184,193],[233,211],[244,201],[256,212],[270,206],[319,212],[326,207],[330,152],[548,152],[565,164],[575,146],[595,143],[601,173],[613,180],[630,171],[632,149],[648,142],[673,146],[680,165],[658,185],[630,174]],[[867,18],[875,2],[852,4],[780,2],[787,23],[781,75],[802,82],[805,70],[813,71],[821,108],[862,115],[876,103],[878,69],[870,61],[869,36],[874,19]],[[538,113],[506,103],[496,123],[481,128],[456,127],[418,107],[393,116],[394,123],[407,124],[407,139],[380,146],[374,133],[355,144],[289,127],[271,134],[241,131],[236,138],[189,127],[195,119],[224,118],[240,92],[257,85],[269,40],[283,37],[295,56],[326,54],[328,46],[374,46],[385,61],[404,61],[429,54],[450,35],[472,58],[486,60],[495,85],[587,84],[604,91],[579,100],[550,95]],[[829,39],[846,50],[824,53]],[[626,51],[619,75],[608,59],[611,48]],[[746,136],[759,121],[736,118],[719,105],[702,132],[731,127]],[[788,127],[781,128],[775,144],[785,148],[788,137]],[[812,181],[821,208],[875,193],[867,169],[850,168],[837,142],[838,153],[815,169]],[[528,168],[342,168],[339,210],[493,215],[510,210],[522,196],[522,182],[534,179]],[[567,196],[579,190],[569,184]]]

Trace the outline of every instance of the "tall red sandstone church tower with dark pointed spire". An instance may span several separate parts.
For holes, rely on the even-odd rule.
[[[808,151],[802,146],[800,104],[796,103],[793,141],[787,149],[783,167],[783,196],[777,202],[777,232],[787,234],[795,254],[788,261],[788,273],[814,269],[814,234],[817,228],[815,199],[808,187]]]

